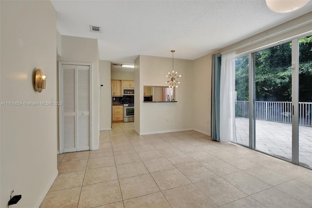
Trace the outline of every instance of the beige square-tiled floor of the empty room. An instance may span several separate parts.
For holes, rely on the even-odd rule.
[[[41,208],[311,208],[312,170],[196,131],[100,132],[99,150],[58,155]]]

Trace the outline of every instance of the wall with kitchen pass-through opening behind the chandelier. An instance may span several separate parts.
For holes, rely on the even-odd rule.
[[[140,56],[140,134],[193,129],[192,68],[192,61],[181,59],[175,59],[174,61],[174,70],[182,76],[179,78],[180,84],[176,88],[177,103],[143,103],[144,85],[168,86],[168,84],[165,84],[167,81],[166,75],[172,71],[172,59]]]

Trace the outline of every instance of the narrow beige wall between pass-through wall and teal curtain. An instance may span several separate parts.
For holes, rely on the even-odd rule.
[[[211,136],[211,56],[193,61],[193,128]]]

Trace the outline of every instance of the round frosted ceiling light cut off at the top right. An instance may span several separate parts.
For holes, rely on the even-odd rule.
[[[269,9],[276,13],[289,13],[300,9],[310,0],[265,0]]]

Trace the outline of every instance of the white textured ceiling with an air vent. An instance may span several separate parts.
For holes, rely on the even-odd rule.
[[[61,35],[98,39],[100,60],[134,63],[138,55],[194,60],[312,11],[289,13],[265,0],[52,0]],[[91,33],[90,25],[101,33]]]

